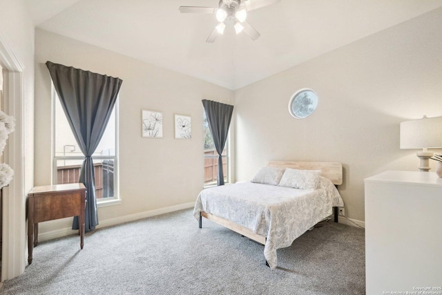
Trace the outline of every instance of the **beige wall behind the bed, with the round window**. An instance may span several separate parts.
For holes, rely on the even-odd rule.
[[[236,91],[237,180],[267,160],[341,162],[346,215],[364,220],[364,178],[419,165],[399,149],[399,123],[442,116],[441,32],[439,9]],[[296,120],[288,102],[300,88],[319,102]]]

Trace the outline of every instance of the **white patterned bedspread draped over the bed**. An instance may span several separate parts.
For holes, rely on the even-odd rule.
[[[327,178],[320,178],[314,191],[240,182],[204,189],[198,195],[193,216],[205,211],[251,229],[267,238],[264,256],[271,269],[278,264],[276,249],[291,243],[332,215],[332,207],[343,206],[338,190]]]

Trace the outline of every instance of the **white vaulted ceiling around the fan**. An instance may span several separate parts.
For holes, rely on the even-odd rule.
[[[249,12],[258,40],[227,27],[209,44],[215,16],[178,8],[218,0],[26,2],[38,28],[232,90],[442,7],[442,0],[282,0]]]

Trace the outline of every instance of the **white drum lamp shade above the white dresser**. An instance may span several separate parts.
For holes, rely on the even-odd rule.
[[[401,123],[401,149],[442,147],[442,117],[423,117]]]

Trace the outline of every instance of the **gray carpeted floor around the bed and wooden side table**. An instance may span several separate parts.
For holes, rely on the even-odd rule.
[[[192,210],[41,242],[32,265],[1,294],[365,294],[364,231],[327,222],[291,247],[278,268],[264,246]]]

